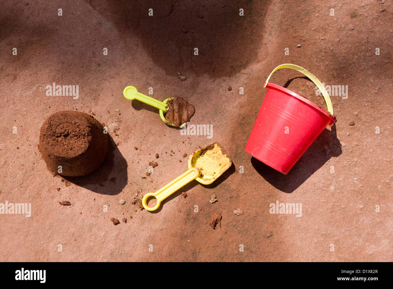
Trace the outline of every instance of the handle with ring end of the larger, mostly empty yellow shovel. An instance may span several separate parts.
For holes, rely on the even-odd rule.
[[[156,191],[155,193],[147,193],[142,198],[142,205],[148,211],[155,211],[160,206],[161,202],[172,195],[175,191],[179,190],[182,186],[185,186],[192,180],[195,180],[200,175],[200,169],[198,168],[191,168],[186,171],[184,174],[180,175],[176,179],[174,179],[169,184],[163,186],[160,190]],[[157,203],[154,207],[149,207],[147,205],[147,199],[149,197],[155,197],[157,199]]]

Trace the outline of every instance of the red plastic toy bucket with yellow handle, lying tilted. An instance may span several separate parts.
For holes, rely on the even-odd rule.
[[[280,68],[295,69],[309,77],[320,89],[329,112],[295,92],[268,83]],[[287,174],[327,125],[336,121],[329,94],[309,71],[294,64],[277,66],[264,83],[268,91],[259,110],[245,151],[261,162]]]

